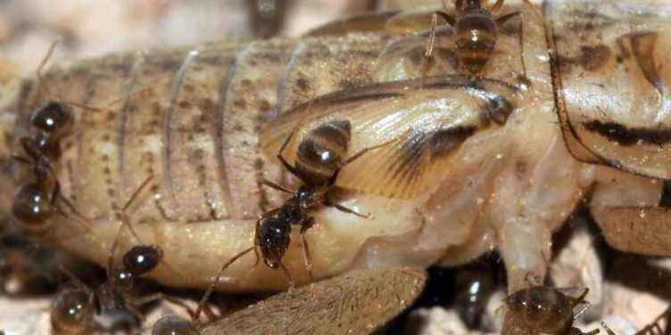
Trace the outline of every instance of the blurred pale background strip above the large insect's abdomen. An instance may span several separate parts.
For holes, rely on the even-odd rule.
[[[23,69],[36,69],[54,40],[62,41],[54,53],[59,60],[221,39],[295,37],[375,6],[369,0],[0,0],[0,53]],[[286,20],[274,20],[274,13]]]

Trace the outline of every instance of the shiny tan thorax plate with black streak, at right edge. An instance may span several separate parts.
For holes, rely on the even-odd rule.
[[[571,14],[576,4],[552,6],[553,77],[569,151],[586,162],[671,178],[669,20],[617,4],[599,4],[592,15]]]

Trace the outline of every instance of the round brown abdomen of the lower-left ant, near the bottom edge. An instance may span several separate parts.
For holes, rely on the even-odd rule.
[[[93,315],[93,300],[87,290],[62,290],[54,300],[51,324],[59,334],[82,334],[87,331]]]

